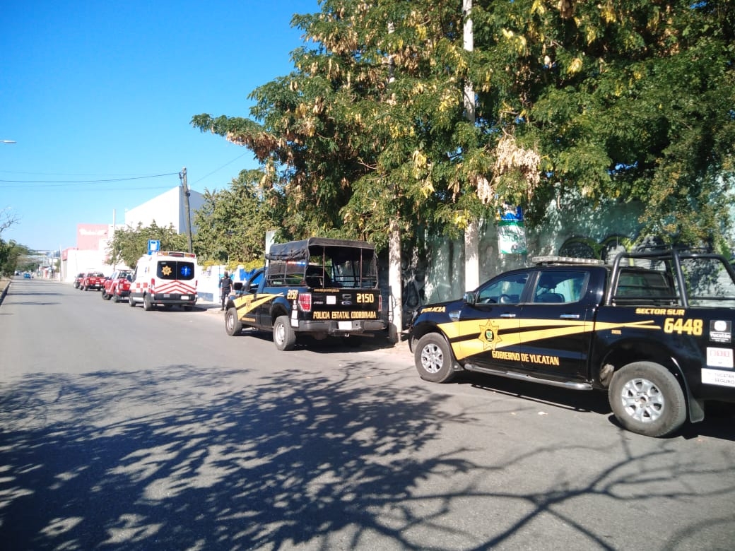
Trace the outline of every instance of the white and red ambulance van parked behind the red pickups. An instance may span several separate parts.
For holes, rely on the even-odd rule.
[[[168,308],[177,304],[190,310],[196,303],[196,254],[156,251],[141,256],[133,273],[128,303]]]

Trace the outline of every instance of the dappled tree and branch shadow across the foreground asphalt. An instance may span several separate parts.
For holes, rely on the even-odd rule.
[[[391,385],[359,382],[381,372],[395,376],[378,363],[348,362],[337,376],[284,381],[280,372],[245,382],[243,370],[169,365],[6,383],[0,541],[14,551],[380,549],[387,542],[392,549],[484,550],[551,517],[589,548],[613,549],[602,527],[559,505],[619,494],[628,507],[701,498],[708,490],[694,482],[704,470],[717,476],[712,465],[678,464],[658,447],[632,453],[621,438],[621,453],[592,450],[599,472],[584,480],[478,487],[562,446],[470,461],[467,450],[476,444],[437,442],[448,426],[478,418],[420,385],[402,388],[397,399]],[[661,467],[653,461],[659,456],[672,463]],[[652,477],[681,480],[681,489],[673,494],[663,485],[637,497],[637,484]],[[465,483],[438,483],[447,480]],[[717,492],[731,496],[735,488],[724,479]],[[494,500],[503,514],[457,522],[468,500]],[[728,518],[713,518],[720,523],[714,528],[730,530]]]

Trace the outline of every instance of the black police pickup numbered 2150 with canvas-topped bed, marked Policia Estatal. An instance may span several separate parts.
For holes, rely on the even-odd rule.
[[[271,245],[265,259],[266,267],[229,298],[227,334],[244,327],[273,331],[276,348],[291,350],[300,335],[359,344],[360,336],[387,328],[370,243],[311,237]]]

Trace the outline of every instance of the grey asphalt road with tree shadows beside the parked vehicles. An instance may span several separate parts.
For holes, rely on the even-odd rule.
[[[278,352],[219,311],[15,278],[0,306],[8,550],[730,550],[735,414],[668,439],[604,395],[407,350]]]

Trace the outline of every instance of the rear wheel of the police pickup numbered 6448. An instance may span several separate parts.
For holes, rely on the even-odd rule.
[[[673,373],[651,361],[636,361],[612,376],[610,407],[628,431],[666,436],[686,420],[684,392]]]

